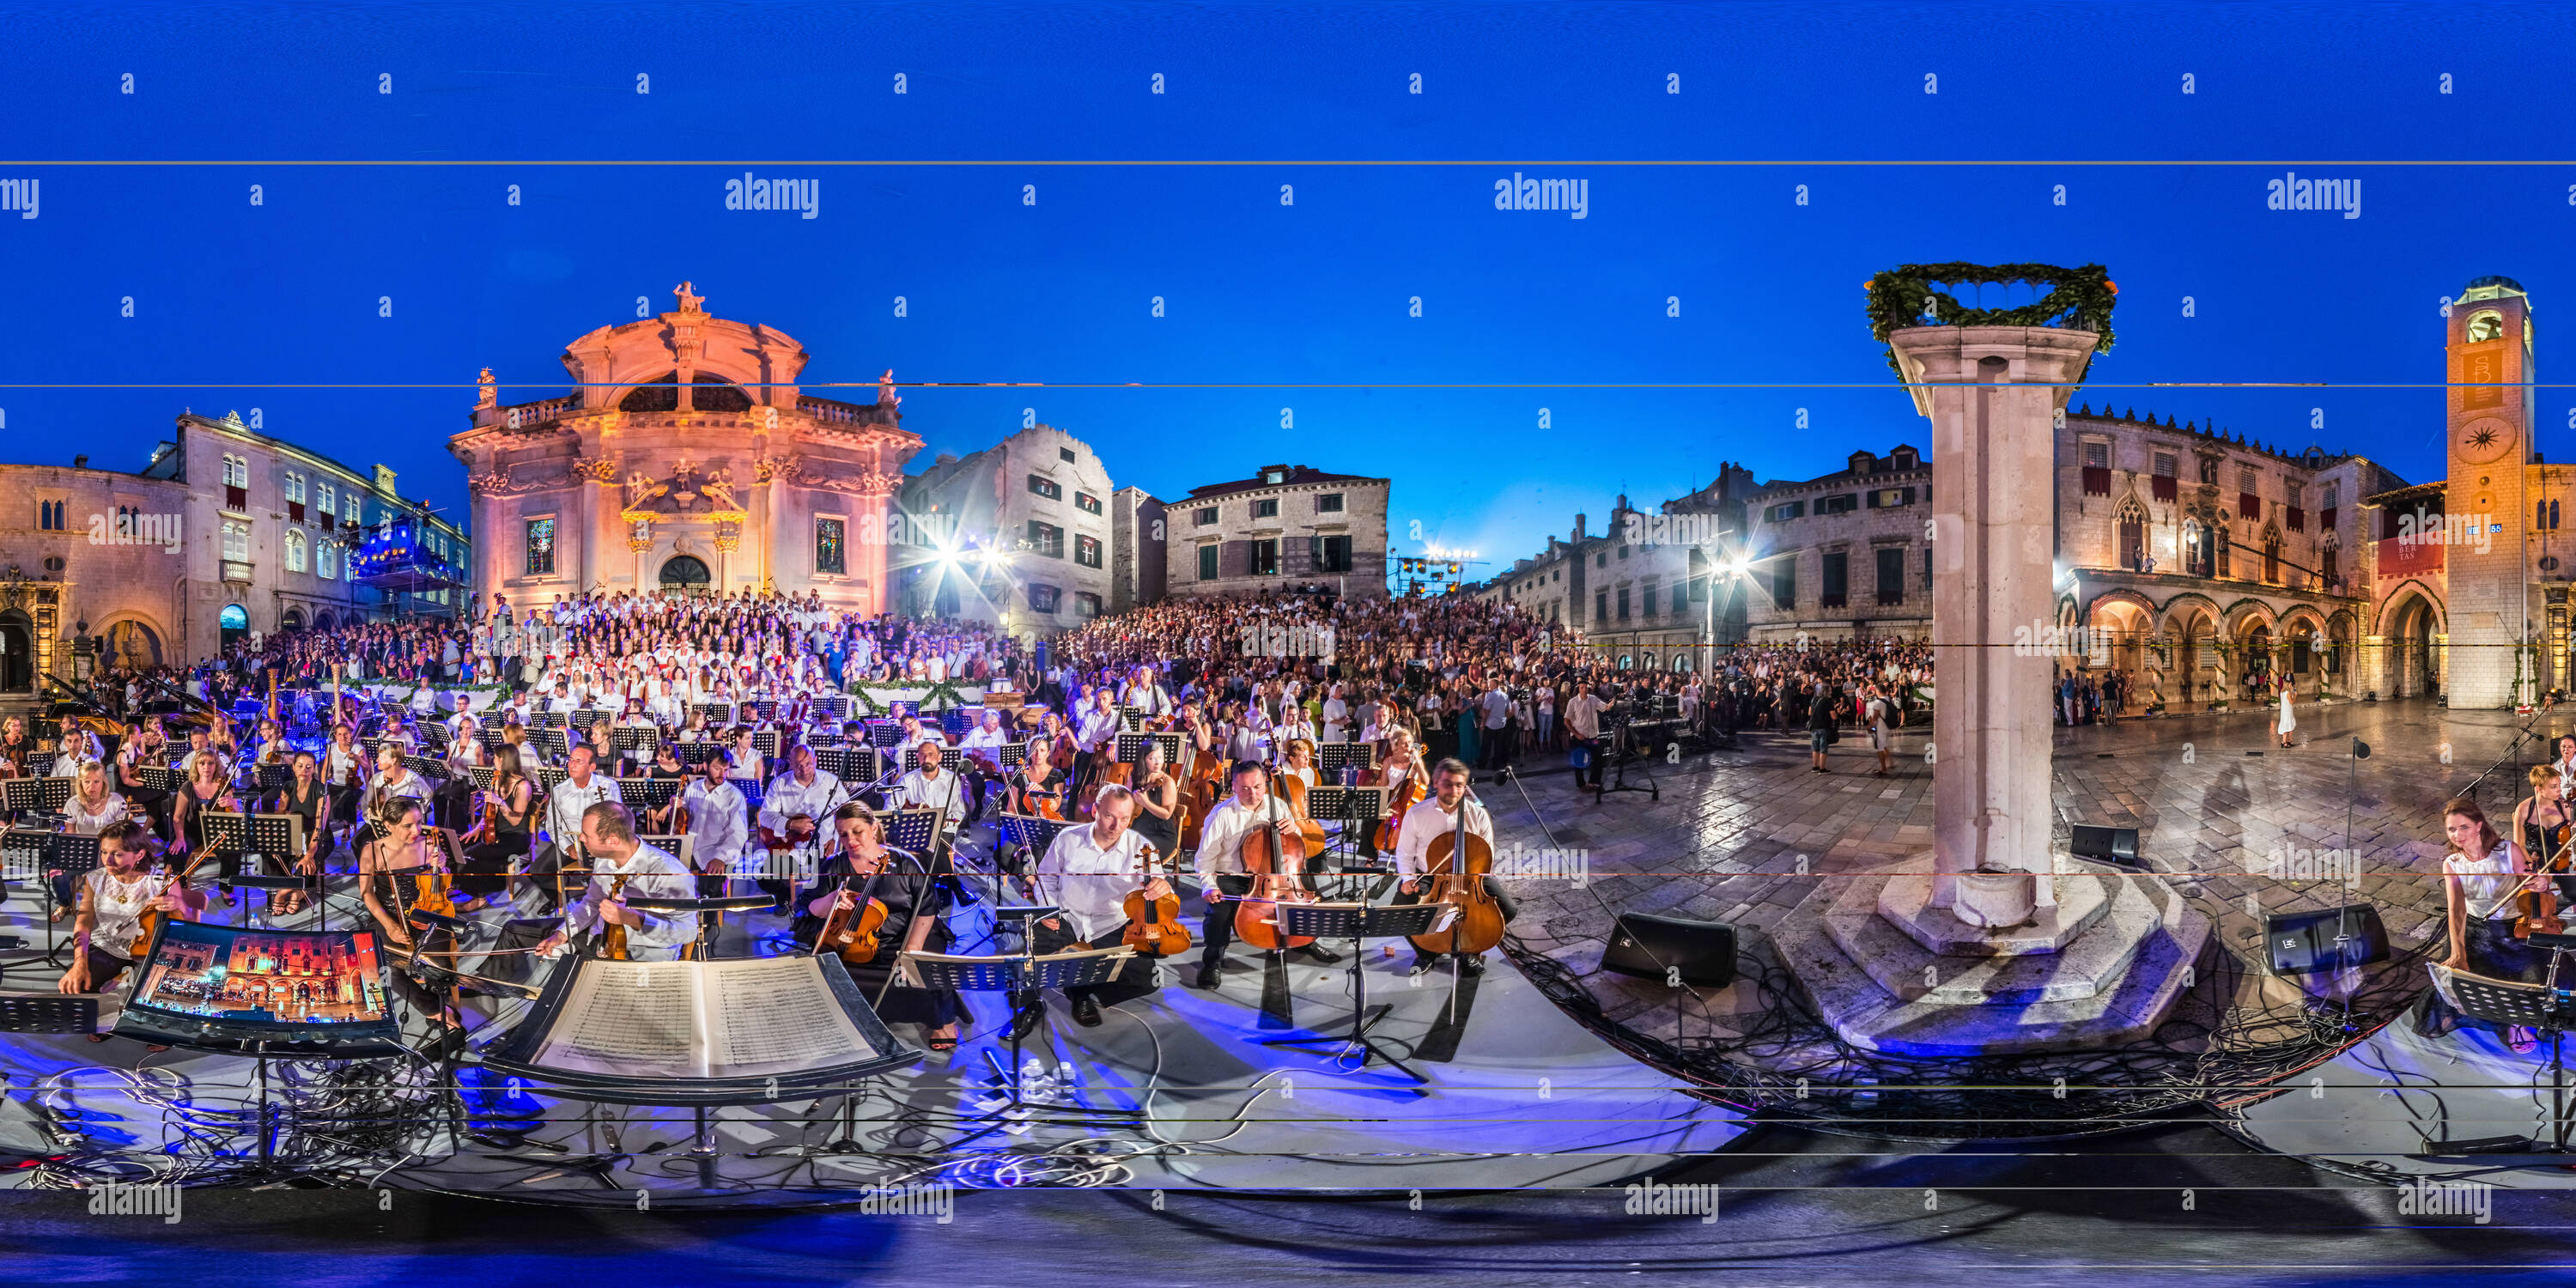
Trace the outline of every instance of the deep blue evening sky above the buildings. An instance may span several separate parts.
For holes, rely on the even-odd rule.
[[[1721,459],[1927,443],[1862,317],[1896,263],[2105,263],[2117,348],[2079,402],[2409,479],[2439,469],[2442,296],[2519,278],[2545,381],[2576,309],[2568,8],[0,5],[0,178],[44,193],[0,214],[0,453],[137,469],[180,407],[260,407],[448,507],[477,368],[556,394],[564,343],[683,278],[801,340],[809,384],[1038,384],[907,389],[925,456],[1028,407],[1164,497],[1383,474],[1399,554],[1419,523],[1486,572]],[[2290,167],[2362,180],[2362,216],[2264,209]],[[726,211],[742,170],[819,180],[819,216]],[[1587,219],[1497,211],[1512,173],[1587,180]],[[2576,389],[2540,407],[2543,451],[2576,451]]]

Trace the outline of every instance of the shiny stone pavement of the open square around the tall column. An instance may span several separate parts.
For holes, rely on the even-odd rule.
[[[2321,989],[2329,976],[2264,974],[2262,914],[2370,902],[2401,958],[2439,940],[2447,853],[2439,809],[2514,744],[2524,721],[2429,701],[2308,706],[2300,744],[2287,752],[2272,744],[2269,711],[2056,729],[2056,848],[2066,850],[2069,824],[2138,827],[2146,866],[2210,917],[2213,951],[2233,958],[2202,958],[2197,987],[2177,1005],[2182,1023],[2164,1033],[2166,1046],[2269,1041],[2267,1030],[2280,1038],[2275,1025],[2295,1015],[2300,984]],[[2576,708],[2535,729],[2568,726],[2576,726]],[[2354,734],[2370,744],[2370,760],[2352,760]],[[1935,768],[1924,762],[1927,744],[1919,726],[1901,734],[1893,778],[1873,778],[1868,744],[1847,737],[1834,750],[1834,773],[1819,775],[1808,770],[1803,734],[1744,734],[1739,750],[1643,765],[1662,788],[1659,801],[1613,793],[1595,804],[1589,791],[1574,791],[1571,775],[1546,773],[1556,768],[1546,762],[1533,762],[1540,773],[1517,786],[1479,786],[1497,817],[1504,871],[1515,848],[1571,848],[1587,873],[1582,886],[1512,881],[1522,904],[1512,930],[1525,948],[1574,971],[1607,1020],[1664,1043],[1723,1048],[1759,1020],[1757,992],[1744,981],[1674,989],[1600,971],[1613,914],[1731,922],[1747,953],[1759,958],[1767,953],[1762,933],[1798,902],[1832,899],[1842,884],[1891,860],[1911,858],[1929,873]],[[2499,829],[2522,796],[2522,765],[2545,755],[2543,747],[2537,737],[2524,742],[2514,762],[2478,788]],[[1551,863],[1561,860],[1543,860],[1540,871]],[[2406,994],[2424,987],[2409,963],[2372,966],[2362,984],[2370,981]],[[1777,1056],[1754,1064],[1798,1066],[1814,1051]]]

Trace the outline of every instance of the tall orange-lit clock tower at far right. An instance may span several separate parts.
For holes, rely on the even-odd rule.
[[[2540,590],[2532,572],[2532,301],[2514,278],[2478,278],[2450,307],[2450,487],[2442,528],[2450,706],[2514,706],[2540,693]]]

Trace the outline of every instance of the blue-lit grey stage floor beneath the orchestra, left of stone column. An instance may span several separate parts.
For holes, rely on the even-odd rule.
[[[350,925],[350,884],[332,886],[330,917]],[[41,912],[23,884],[13,894],[0,933],[41,948]],[[216,907],[211,920],[245,912]],[[719,951],[739,956],[744,922],[729,922]],[[278,925],[309,925],[309,914]],[[775,917],[750,922],[755,935],[781,927]],[[1718,1151],[1744,1131],[1731,1108],[1685,1095],[1566,1018],[1499,953],[1489,961],[1484,976],[1453,987],[1448,971],[1409,976],[1409,948],[1365,953],[1368,1002],[1391,1007],[1370,1036],[1425,1074],[1419,1087],[1386,1061],[1360,1066],[1340,1041],[1262,1046],[1345,1033],[1347,961],[1283,963],[1236,948],[1221,989],[1180,987],[1185,966],[1162,966],[1170,987],[1108,1007],[1097,1028],[1077,1025],[1051,994],[1020,1061],[1054,1077],[1046,1100],[1061,1108],[1007,1108],[994,1090],[1012,1059],[1002,1002],[974,994],[976,1023],[956,1051],[860,1079],[850,1095],[708,1110],[703,1136],[685,1108],[587,1105],[471,1069],[459,1079],[464,1095],[453,1095],[428,1074],[353,1084],[353,1069],[273,1061],[270,1105],[286,1123],[276,1149],[294,1170],[343,1185],[688,1208],[842,1203],[896,1185],[1600,1188]],[[52,979],[46,969],[8,971],[15,992]],[[497,1038],[523,1007],[469,999],[474,1046]],[[425,1038],[417,1023],[412,1033]],[[914,1025],[896,1036],[922,1043]],[[247,1180],[245,1162],[258,1151],[247,1128],[260,1105],[250,1059],[5,1033],[0,1066],[10,1072],[0,1149],[88,1151],[98,1175],[124,1180],[173,1170],[204,1182]],[[0,1185],[28,1177],[15,1172]]]

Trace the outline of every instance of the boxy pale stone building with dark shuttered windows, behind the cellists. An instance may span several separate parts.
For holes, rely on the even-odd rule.
[[[1386,479],[1311,466],[1260,466],[1164,502],[1172,595],[1327,585],[1386,595]]]

